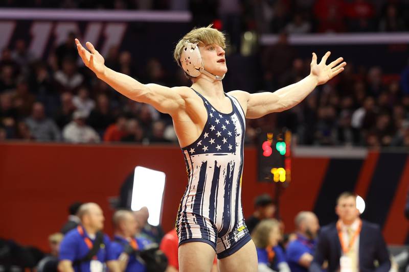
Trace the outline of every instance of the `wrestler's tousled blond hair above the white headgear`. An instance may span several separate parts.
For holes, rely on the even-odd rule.
[[[222,48],[226,47],[226,38],[224,37],[224,34],[217,29],[212,28],[212,26],[213,24],[209,24],[207,27],[198,29],[194,28],[177,42],[173,52],[173,58],[180,67],[180,55],[182,54],[185,42],[201,43],[204,45],[215,43]]]

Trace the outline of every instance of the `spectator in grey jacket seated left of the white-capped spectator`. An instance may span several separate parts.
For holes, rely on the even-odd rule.
[[[33,105],[33,112],[26,119],[27,126],[31,134],[37,141],[60,141],[61,135],[55,122],[46,117],[44,106],[36,102]]]

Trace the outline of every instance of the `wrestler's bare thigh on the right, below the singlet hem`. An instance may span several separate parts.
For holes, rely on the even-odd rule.
[[[220,272],[257,272],[257,252],[253,240],[234,254],[218,260]]]

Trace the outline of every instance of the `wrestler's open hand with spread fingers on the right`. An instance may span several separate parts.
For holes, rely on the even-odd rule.
[[[315,53],[312,53],[310,75],[317,79],[318,85],[326,83],[327,81],[338,75],[338,73],[344,71],[344,67],[345,65],[347,65],[346,62],[339,64],[344,60],[343,58],[338,58],[328,65],[325,64],[329,55],[331,55],[331,52],[328,51],[322,58],[321,62],[317,64],[316,55]]]

